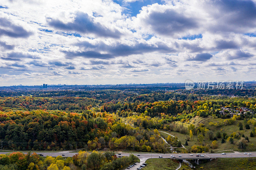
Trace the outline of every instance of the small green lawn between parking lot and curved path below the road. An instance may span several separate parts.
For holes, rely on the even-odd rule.
[[[179,166],[178,162],[172,161],[172,159],[158,159],[158,158],[152,158],[146,160],[146,164],[148,164],[146,167],[143,168],[143,170],[165,170],[165,169],[176,169]]]

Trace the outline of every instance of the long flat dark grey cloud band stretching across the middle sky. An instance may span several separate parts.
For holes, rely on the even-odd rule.
[[[84,44],[88,44],[88,42],[76,43],[75,45],[80,48],[88,48],[88,46],[84,46]],[[104,43],[99,43],[96,45],[89,45],[92,50],[88,51],[61,51],[63,52],[67,58],[72,58],[76,56],[82,56],[85,58],[98,58],[98,59],[110,59],[118,56],[128,56],[134,54],[144,54],[149,52],[164,52],[170,53],[175,52],[173,48],[168,47],[163,42],[156,42],[155,44],[147,44],[135,41],[133,45],[116,43],[114,45],[107,45]],[[105,53],[99,53],[98,51],[104,50]]]

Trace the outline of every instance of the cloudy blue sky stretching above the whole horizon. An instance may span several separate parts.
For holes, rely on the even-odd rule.
[[[255,80],[256,0],[1,0],[0,86]]]

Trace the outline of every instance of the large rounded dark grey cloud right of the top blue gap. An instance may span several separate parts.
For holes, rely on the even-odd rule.
[[[151,11],[145,22],[162,35],[174,35],[197,27],[195,18],[187,18],[171,9],[164,12]]]

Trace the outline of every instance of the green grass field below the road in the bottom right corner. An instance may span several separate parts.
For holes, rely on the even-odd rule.
[[[218,158],[203,164],[196,165],[206,170],[256,170],[256,158]]]

